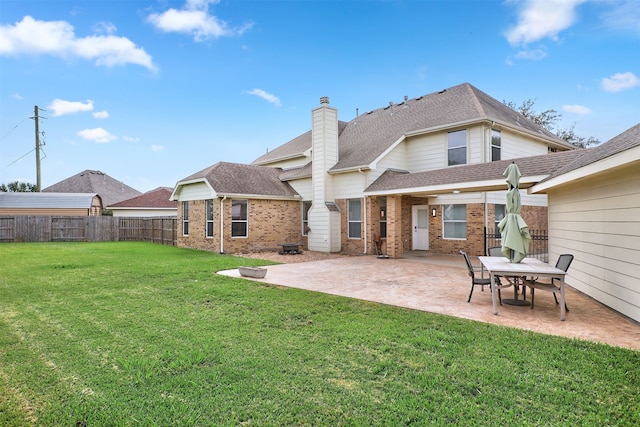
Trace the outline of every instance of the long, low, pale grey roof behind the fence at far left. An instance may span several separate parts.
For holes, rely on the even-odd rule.
[[[90,209],[96,193],[0,193],[1,208]]]

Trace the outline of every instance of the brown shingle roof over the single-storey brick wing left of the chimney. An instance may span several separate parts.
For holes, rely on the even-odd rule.
[[[297,197],[293,187],[280,180],[281,173],[280,168],[219,162],[178,181],[172,197],[179,187],[202,181],[206,181],[219,196]]]

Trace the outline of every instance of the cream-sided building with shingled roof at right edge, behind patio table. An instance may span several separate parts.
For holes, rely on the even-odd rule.
[[[640,322],[640,124],[529,192],[548,195],[550,259],[575,256],[570,285]]]

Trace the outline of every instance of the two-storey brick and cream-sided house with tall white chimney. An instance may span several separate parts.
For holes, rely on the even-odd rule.
[[[392,257],[481,255],[485,228],[504,215],[509,160],[535,157],[526,188],[573,155],[549,153],[575,148],[468,83],[350,122],[320,102],[310,131],[252,165],[219,163],[176,184],[179,246],[372,253],[380,241]],[[522,202],[530,228],[546,229],[546,196]]]

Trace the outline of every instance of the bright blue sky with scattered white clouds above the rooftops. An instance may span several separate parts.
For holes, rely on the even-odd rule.
[[[640,121],[635,0],[2,0],[0,183],[86,169],[140,191],[469,82],[606,141]],[[46,110],[46,111],[44,111]]]

